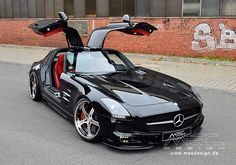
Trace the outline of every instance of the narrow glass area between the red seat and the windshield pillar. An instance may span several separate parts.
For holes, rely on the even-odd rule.
[[[67,52],[66,53],[66,72],[74,73],[76,67],[76,53]]]

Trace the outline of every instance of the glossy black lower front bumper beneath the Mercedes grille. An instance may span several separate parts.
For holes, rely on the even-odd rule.
[[[175,130],[171,130],[171,132],[175,133],[190,128],[191,133],[186,134],[186,136],[192,135],[199,130],[203,123],[203,120],[204,116],[200,114],[198,119],[193,123],[185,126],[184,128],[176,128]],[[112,123],[108,136],[106,137],[106,139],[104,139],[104,144],[121,150],[141,150],[150,149],[155,144],[160,144],[164,142],[162,138],[163,134],[166,133],[166,131],[127,131],[128,129],[125,131],[118,131],[114,128],[115,125],[119,123]],[[182,136],[178,139],[181,139],[186,136]]]

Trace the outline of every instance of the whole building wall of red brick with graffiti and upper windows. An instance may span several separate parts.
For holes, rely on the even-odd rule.
[[[129,14],[132,21],[148,22],[158,30],[150,37],[114,32],[105,47],[236,60],[236,0],[0,0],[0,44],[66,47],[62,33],[43,38],[28,28],[42,18],[56,18],[59,11],[70,16],[70,26],[85,45],[94,28]]]

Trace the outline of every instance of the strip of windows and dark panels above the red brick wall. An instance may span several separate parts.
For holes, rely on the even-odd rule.
[[[228,17],[235,0],[0,0],[0,18],[54,18],[58,11],[77,17]]]

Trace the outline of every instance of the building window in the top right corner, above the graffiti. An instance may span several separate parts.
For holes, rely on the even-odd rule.
[[[236,16],[236,1],[235,0],[221,0],[221,12],[222,16]]]

